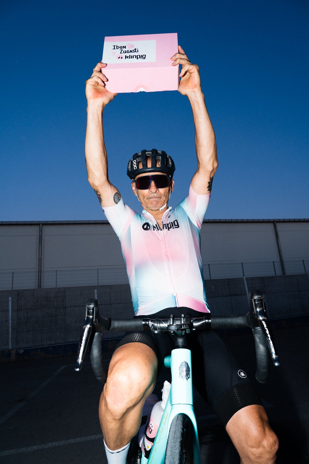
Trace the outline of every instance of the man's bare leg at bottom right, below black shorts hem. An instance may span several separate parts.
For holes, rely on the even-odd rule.
[[[226,430],[240,455],[240,464],[276,462],[278,439],[263,406],[240,409],[227,422]]]

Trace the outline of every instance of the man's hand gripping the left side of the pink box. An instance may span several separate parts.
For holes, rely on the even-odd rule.
[[[117,95],[116,93],[109,92],[105,87],[105,83],[108,79],[101,72],[101,69],[106,66],[106,63],[98,63],[93,70],[92,76],[86,81],[86,97],[88,104],[92,102],[101,102],[102,105],[105,106]]]

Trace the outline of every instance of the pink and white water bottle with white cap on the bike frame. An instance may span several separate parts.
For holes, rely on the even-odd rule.
[[[156,403],[152,408],[150,419],[146,426],[144,438],[141,444],[142,452],[147,459],[149,458],[154,439],[158,432],[161,417],[164,412],[166,401],[170,394],[170,382],[167,380],[164,382],[162,392],[162,401],[158,401],[158,403]]]

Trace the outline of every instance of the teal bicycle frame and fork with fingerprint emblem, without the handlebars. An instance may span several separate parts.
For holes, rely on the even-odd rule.
[[[170,425],[177,414],[185,414],[192,423],[192,444],[195,464],[201,464],[201,453],[197,435],[197,424],[193,409],[191,351],[175,348],[164,358],[164,365],[170,367],[172,382],[170,395],[166,402],[149,458],[142,455],[141,464],[164,464],[167,438]]]

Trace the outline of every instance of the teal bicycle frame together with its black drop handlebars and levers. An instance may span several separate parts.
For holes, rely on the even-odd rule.
[[[257,357],[256,379],[265,383],[269,374],[268,350],[271,353],[271,359],[274,366],[279,366],[279,359],[275,341],[271,336],[271,329],[268,328],[267,315],[263,294],[254,291],[249,294],[250,310],[244,316],[210,316],[205,315],[203,318],[190,319],[186,321],[183,314],[181,318],[174,321],[173,316],[170,319],[132,319],[117,320],[101,317],[98,308],[98,301],[88,300],[86,304],[86,320],[82,329],[81,341],[78,347],[77,363],[75,370],[80,371],[82,361],[86,352],[87,344],[95,328],[93,336],[90,360],[95,377],[102,383],[107,379],[107,373],[104,369],[102,359],[102,334],[105,330],[121,331],[143,331],[151,329],[154,333],[161,331],[170,331],[177,336],[189,333],[191,329],[235,329],[250,327],[254,336],[255,350]],[[174,323],[175,322],[175,323]],[[176,345],[175,345],[176,346]],[[197,425],[193,410],[192,394],[192,364],[191,351],[188,348],[178,348],[185,346],[183,343],[177,343],[170,356],[164,359],[164,365],[170,367],[172,374],[172,383],[170,395],[167,400],[162,419],[158,428],[157,435],[151,448],[149,458],[144,455],[141,458],[141,464],[164,464],[166,445],[170,432],[172,420],[178,414],[184,414],[192,424],[190,427],[191,441],[193,446],[195,464],[201,464],[201,453],[197,436]]]

